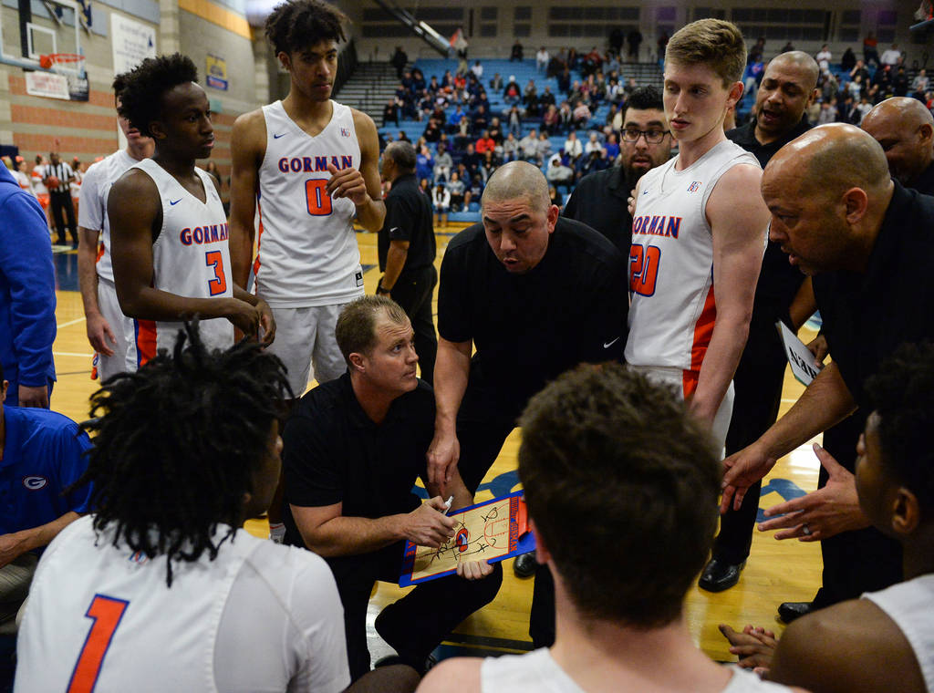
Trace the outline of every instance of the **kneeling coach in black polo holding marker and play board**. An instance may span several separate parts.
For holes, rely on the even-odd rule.
[[[366,610],[375,581],[398,583],[406,539],[439,546],[455,522],[434,485],[427,484],[427,502],[411,490],[417,476],[426,479],[434,397],[416,377],[414,334],[402,308],[381,296],[358,299],[341,312],[336,337],[348,373],[305,394],[282,436],[286,542],[331,566],[356,680],[370,669]],[[473,502],[458,474],[446,493],[453,509]],[[499,564],[461,563],[458,572],[419,585],[376,618],[376,631],[417,670],[502,582]]]

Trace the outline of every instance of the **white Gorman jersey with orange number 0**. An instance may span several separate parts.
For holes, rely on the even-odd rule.
[[[257,295],[277,307],[343,304],[363,295],[356,205],[325,190],[329,164],[360,169],[360,144],[350,108],[331,104],[331,121],[314,137],[289,118],[281,101],[262,106],[266,154],[253,272]]]

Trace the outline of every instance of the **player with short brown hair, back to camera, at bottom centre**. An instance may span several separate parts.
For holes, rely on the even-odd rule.
[[[618,363],[579,366],[531,398],[519,476],[538,560],[555,578],[555,644],[447,659],[419,691],[789,691],[718,666],[687,632],[685,594],[714,538],[720,473],[680,399]]]

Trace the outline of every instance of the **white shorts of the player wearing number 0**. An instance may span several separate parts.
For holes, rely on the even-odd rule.
[[[269,351],[289,369],[289,384],[296,398],[308,389],[312,362],[318,383],[334,380],[347,371],[347,362],[334,335],[337,316],[345,305],[272,308],[276,318],[276,339]]]

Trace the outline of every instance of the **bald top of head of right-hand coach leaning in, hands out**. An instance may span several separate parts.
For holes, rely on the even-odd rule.
[[[855,125],[821,125],[778,150],[762,174],[762,186],[781,179],[787,194],[826,194],[837,199],[860,188],[870,195],[885,191],[888,165],[882,147]]]

